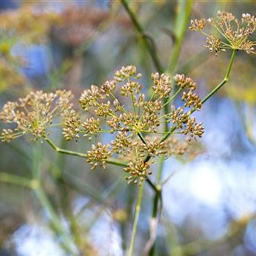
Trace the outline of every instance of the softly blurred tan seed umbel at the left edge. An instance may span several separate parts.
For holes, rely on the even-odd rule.
[[[69,118],[70,116],[74,117],[74,113],[70,112],[72,104],[69,100],[71,98],[70,91],[56,91],[54,94],[36,91],[31,92],[23,99],[19,99],[18,102],[7,102],[1,110],[0,120],[15,124],[15,127],[4,131],[2,140],[10,141],[12,138],[27,133],[30,133],[34,140],[44,138],[48,135],[47,129],[53,123],[53,117],[59,115],[63,116],[64,119],[67,116]],[[64,121],[64,134],[67,138],[73,136],[71,129],[74,129],[73,122],[66,119]]]

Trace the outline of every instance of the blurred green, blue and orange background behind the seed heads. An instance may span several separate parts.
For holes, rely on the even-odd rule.
[[[184,2],[129,1],[163,67]],[[255,15],[256,3],[194,1],[189,20],[214,17],[217,10]],[[230,58],[230,52],[208,53],[204,44],[187,29],[176,67],[197,82],[201,97],[224,78]],[[36,90],[70,89],[78,99],[127,64],[150,85],[156,67],[119,1],[0,1],[0,106]],[[203,138],[186,157],[165,162],[154,255],[256,255],[255,105],[255,55],[238,53],[228,83],[196,113],[206,128]],[[64,142],[58,129],[52,138],[61,148],[89,148],[86,140]],[[137,187],[127,185],[121,168],[91,171],[83,159],[19,138],[0,143],[0,256],[68,255],[51,223],[54,214],[26,186],[33,168],[62,227],[75,237],[78,255],[125,255]],[[148,241],[152,197],[146,188],[135,256]]]

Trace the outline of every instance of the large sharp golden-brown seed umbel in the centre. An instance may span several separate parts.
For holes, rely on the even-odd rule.
[[[83,133],[89,135],[90,139],[98,132],[109,132],[115,137],[104,148],[104,154],[97,151],[97,157],[91,157],[91,152],[98,150],[94,146],[94,151],[90,151],[91,166],[96,167],[97,162],[101,165],[104,162],[105,166],[108,163],[107,155],[127,160],[128,166],[124,170],[129,173],[129,184],[140,184],[151,173],[149,167],[155,158],[170,155],[170,146],[158,136],[162,133],[162,124],[170,124],[170,133],[180,133],[181,137],[186,135],[190,140],[203,135],[201,124],[189,117],[192,110],[200,110],[202,105],[195,94],[195,81],[185,75],[175,76],[175,82],[183,91],[181,99],[184,105],[178,109],[173,105],[170,113],[164,115],[165,99],[170,96],[173,87],[170,76],[159,73],[151,75],[153,94],[148,100],[141,93],[143,85],[138,81],[140,76],[135,66],[122,67],[112,80],[99,87],[91,86],[91,89],[83,91],[79,99],[82,108],[95,115],[82,124]],[[130,100],[129,104],[127,100]],[[99,124],[102,124],[102,128],[99,128]],[[102,151],[101,144],[99,148]],[[185,151],[184,147],[182,149],[177,149],[180,154]]]

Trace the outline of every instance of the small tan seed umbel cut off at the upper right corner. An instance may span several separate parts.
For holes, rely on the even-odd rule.
[[[219,37],[214,34],[207,34],[203,31],[206,23],[209,23],[219,33]],[[217,19],[208,18],[191,20],[192,31],[200,31],[206,37],[206,48],[216,55],[226,49],[244,50],[246,53],[255,53],[255,41],[248,38],[256,30],[256,18],[249,13],[244,13],[241,20],[238,20],[230,12],[217,12]]]

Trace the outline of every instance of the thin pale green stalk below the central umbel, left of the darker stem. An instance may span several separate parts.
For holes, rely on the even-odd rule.
[[[144,182],[140,185],[139,192],[138,192],[138,199],[137,199],[137,203],[135,206],[135,217],[134,217],[134,221],[133,221],[133,225],[132,225],[132,238],[131,238],[131,242],[129,244],[128,256],[133,255],[133,249],[135,246],[135,237],[136,237],[136,233],[137,233],[138,219],[140,216],[140,206],[141,206],[141,199],[143,196],[143,187],[144,187]]]

